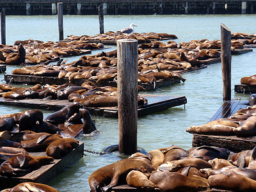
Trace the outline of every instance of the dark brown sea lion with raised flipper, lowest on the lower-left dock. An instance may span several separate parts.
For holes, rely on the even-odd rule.
[[[33,157],[27,154],[19,154],[12,157],[0,166],[0,174],[7,177],[17,177],[38,168],[39,166],[49,164],[54,159],[47,156]]]

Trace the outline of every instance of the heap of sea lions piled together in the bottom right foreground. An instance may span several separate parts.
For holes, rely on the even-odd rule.
[[[152,191],[255,191],[255,157],[256,147],[234,153],[219,147],[184,150],[172,145],[99,168],[88,182],[92,192],[115,191],[124,184]]]

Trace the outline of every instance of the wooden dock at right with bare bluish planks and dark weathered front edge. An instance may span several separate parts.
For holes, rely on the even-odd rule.
[[[248,102],[240,100],[226,101],[220,109],[212,116],[209,122],[218,120],[219,118],[226,118],[236,113],[239,109],[248,107]],[[204,134],[193,134],[193,147],[202,145],[216,146],[227,148],[233,152],[240,152],[241,150],[250,150],[256,145],[256,136],[241,138],[237,136],[214,136]]]

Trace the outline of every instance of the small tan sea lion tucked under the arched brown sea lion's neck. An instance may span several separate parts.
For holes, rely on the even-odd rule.
[[[146,175],[135,170],[128,173],[126,182],[129,186],[135,188],[156,188],[156,185],[151,182]]]

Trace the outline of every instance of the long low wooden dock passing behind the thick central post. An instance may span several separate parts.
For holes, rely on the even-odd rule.
[[[145,107],[138,107],[138,116],[148,115],[150,113],[156,113],[164,111],[174,106],[180,106],[187,103],[185,96],[168,96],[168,95],[150,95],[140,94],[148,100],[148,105]],[[60,110],[63,107],[70,104],[68,100],[43,100],[43,99],[23,99],[13,100],[0,98],[0,104],[12,105],[22,108],[37,108],[37,109],[48,109],[48,110]],[[108,108],[86,108],[91,115],[106,116],[106,117],[117,117],[117,107]]]

